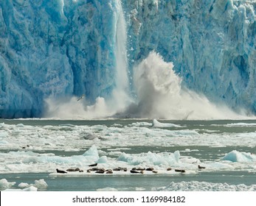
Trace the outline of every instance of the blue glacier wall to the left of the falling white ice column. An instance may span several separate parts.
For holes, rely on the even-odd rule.
[[[0,116],[41,116],[49,96],[108,96],[116,83],[118,3],[0,1]]]

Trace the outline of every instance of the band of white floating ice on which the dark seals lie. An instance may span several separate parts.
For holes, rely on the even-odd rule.
[[[97,163],[97,168],[114,169],[127,168],[127,171],[114,171],[114,174],[130,174],[130,170],[136,168],[154,168],[158,174],[179,175],[174,169],[184,169],[185,174],[196,174],[203,171],[255,171],[252,162],[256,161],[255,154],[232,151],[219,160],[203,161],[195,157],[183,156],[176,152],[142,152],[139,154],[127,154],[125,152],[102,152],[96,146],[91,146],[84,154],[72,156],[58,156],[51,153],[39,154],[36,152],[8,152],[1,154],[4,161],[0,162],[0,173],[36,173],[49,172],[51,175],[63,175],[56,173],[56,168],[66,171],[68,168],[80,168],[83,172],[70,171],[64,175],[95,175],[88,172],[90,165]],[[204,170],[198,169],[198,165],[204,166]],[[172,168],[167,171],[167,168]],[[145,171],[145,174],[153,173]],[[97,174],[96,174],[97,175]],[[43,182],[44,183],[44,182]],[[37,186],[37,185],[41,186]],[[21,185],[22,186],[22,185]],[[35,187],[42,188],[46,185],[35,182]]]

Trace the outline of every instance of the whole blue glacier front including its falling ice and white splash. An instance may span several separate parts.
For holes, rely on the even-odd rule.
[[[255,7],[2,0],[0,117],[255,115]]]

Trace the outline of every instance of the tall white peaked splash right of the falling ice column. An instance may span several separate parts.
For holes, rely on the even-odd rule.
[[[137,102],[127,113],[142,118],[223,119],[238,118],[224,105],[212,104],[205,96],[181,87],[173,63],[165,63],[152,51],[134,68]]]

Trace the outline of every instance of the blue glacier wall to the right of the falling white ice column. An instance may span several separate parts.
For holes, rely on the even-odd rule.
[[[123,1],[131,66],[152,50],[182,84],[235,110],[256,111],[256,1]],[[135,61],[133,61],[135,60]]]

